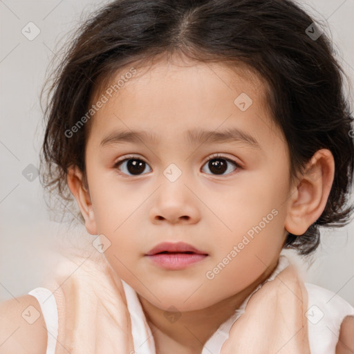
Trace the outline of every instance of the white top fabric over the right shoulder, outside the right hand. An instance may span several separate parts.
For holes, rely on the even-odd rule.
[[[312,283],[305,283],[305,286],[311,353],[335,353],[342,322],[346,316],[354,315],[354,308],[335,292]]]

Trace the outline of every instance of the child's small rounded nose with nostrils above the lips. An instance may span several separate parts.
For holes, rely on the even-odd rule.
[[[158,188],[150,209],[152,223],[167,221],[176,223],[198,223],[201,218],[199,199],[182,178],[175,182],[166,180]]]

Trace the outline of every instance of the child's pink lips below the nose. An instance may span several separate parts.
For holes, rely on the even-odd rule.
[[[164,252],[164,253],[161,253]],[[203,261],[208,254],[184,242],[163,242],[145,254],[155,265],[167,270],[180,270]]]

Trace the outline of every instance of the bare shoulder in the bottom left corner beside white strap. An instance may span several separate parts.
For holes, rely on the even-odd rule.
[[[0,303],[0,354],[45,354],[46,322],[38,300],[24,295]]]

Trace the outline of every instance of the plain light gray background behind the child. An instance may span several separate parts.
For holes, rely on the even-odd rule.
[[[29,164],[39,166],[44,135],[39,93],[55,48],[75,30],[83,10],[90,12],[105,2],[0,0],[0,301],[41,286],[57,261],[53,251],[68,236],[79,237],[68,235],[66,225],[54,221],[46,209],[39,178],[29,182],[22,171]],[[328,21],[337,57],[353,80],[354,0],[298,2],[317,21]],[[32,41],[21,33],[30,21],[41,31]],[[85,231],[81,234],[88,242],[93,239]],[[306,280],[338,293],[354,306],[353,255],[353,222],[323,232]]]

